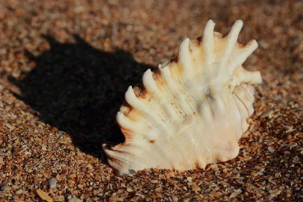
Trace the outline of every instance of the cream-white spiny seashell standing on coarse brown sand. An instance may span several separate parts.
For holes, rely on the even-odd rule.
[[[116,175],[148,168],[192,170],[237,157],[238,140],[254,113],[259,71],[242,67],[258,47],[237,42],[243,22],[222,35],[209,20],[203,35],[185,38],[175,59],[129,86],[116,121],[125,136],[118,145],[103,144]]]

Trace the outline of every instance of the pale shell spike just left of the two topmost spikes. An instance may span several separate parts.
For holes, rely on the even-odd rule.
[[[185,38],[179,45],[178,61],[182,66],[182,73],[185,78],[192,76],[193,67],[191,62],[191,56],[189,53],[189,38]]]

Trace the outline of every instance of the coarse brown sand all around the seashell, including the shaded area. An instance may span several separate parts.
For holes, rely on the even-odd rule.
[[[115,177],[101,144],[123,141],[124,92],[209,19],[259,43],[239,156]],[[302,201],[302,62],[302,1],[1,1],[0,201]]]

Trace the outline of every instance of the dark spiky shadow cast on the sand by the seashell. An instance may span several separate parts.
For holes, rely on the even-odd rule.
[[[114,53],[96,49],[78,35],[75,43],[43,38],[51,48],[38,57],[27,51],[35,68],[23,73],[21,80],[10,78],[22,91],[14,94],[38,112],[39,120],[70,135],[80,150],[101,157],[102,143],[124,141],[115,117],[127,87],[153,67],[121,49]]]

